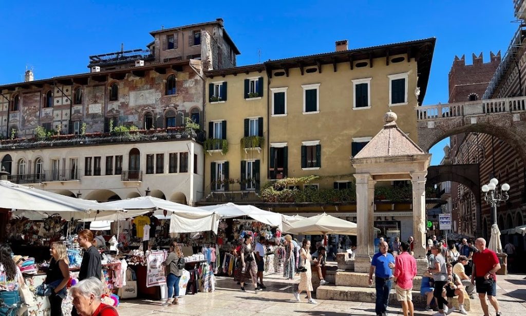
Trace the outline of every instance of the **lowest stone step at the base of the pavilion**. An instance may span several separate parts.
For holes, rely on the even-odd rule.
[[[426,298],[423,295],[420,295],[420,291],[412,291],[413,294],[413,304],[416,307],[424,307],[426,305]],[[470,300],[468,295],[465,295],[464,299],[464,308],[466,311],[470,311]],[[352,302],[366,302],[366,303],[375,303],[376,302],[376,289],[374,287],[364,288],[364,287],[350,287],[350,286],[319,286],[316,290],[316,298],[320,300],[337,300],[337,301],[352,301]],[[458,298],[448,299],[451,301],[454,307],[458,308]],[[396,298],[395,289],[391,290],[389,294],[389,305],[390,306],[400,306]]]

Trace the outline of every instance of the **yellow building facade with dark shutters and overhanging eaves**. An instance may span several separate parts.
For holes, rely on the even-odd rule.
[[[414,109],[427,88],[434,42],[430,38],[352,50],[346,42],[337,42],[333,53],[206,72],[208,138],[225,140],[207,140],[205,145],[201,202],[221,202],[217,191],[234,192],[229,197],[221,193],[224,201],[261,202],[257,186],[305,176],[317,178],[296,189],[353,188],[349,158],[380,131],[387,111],[394,111],[400,128],[417,141]],[[262,86],[256,87],[256,80]],[[256,119],[262,124],[257,126],[259,133]],[[218,123],[222,121],[226,129]],[[241,141],[247,135],[262,137],[262,146],[247,146]],[[225,142],[228,151],[221,152]],[[247,161],[256,160],[248,172]],[[256,186],[242,183],[256,174]],[[248,189],[254,193],[247,199],[252,194]],[[325,204],[325,209],[335,209]],[[339,204],[340,210],[356,209],[352,202]],[[280,211],[287,207],[268,201],[266,205]],[[298,205],[293,206],[297,211]]]

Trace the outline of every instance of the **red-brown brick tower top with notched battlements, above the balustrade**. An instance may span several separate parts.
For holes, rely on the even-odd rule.
[[[449,70],[449,103],[478,100],[484,94],[488,83],[500,64],[500,50],[497,55],[490,52],[490,62],[482,60],[482,53],[472,54],[473,64],[466,65],[466,58],[455,56]]]

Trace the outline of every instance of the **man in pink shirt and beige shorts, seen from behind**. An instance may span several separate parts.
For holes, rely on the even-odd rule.
[[[395,289],[398,301],[402,304],[403,316],[414,315],[413,296],[413,278],[417,275],[417,261],[408,252],[410,251],[409,242],[400,244],[400,254],[395,260]]]

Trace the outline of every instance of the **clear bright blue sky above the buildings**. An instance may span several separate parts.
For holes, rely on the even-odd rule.
[[[448,73],[455,55],[502,50],[518,27],[512,0],[462,1],[4,1],[0,84],[87,72],[88,56],[145,48],[149,32],[217,17],[241,51],[238,65],[330,52],[335,40],[349,48],[436,37],[424,105],[447,103]],[[403,127],[402,127],[403,129]],[[432,164],[443,156],[434,146]]]

